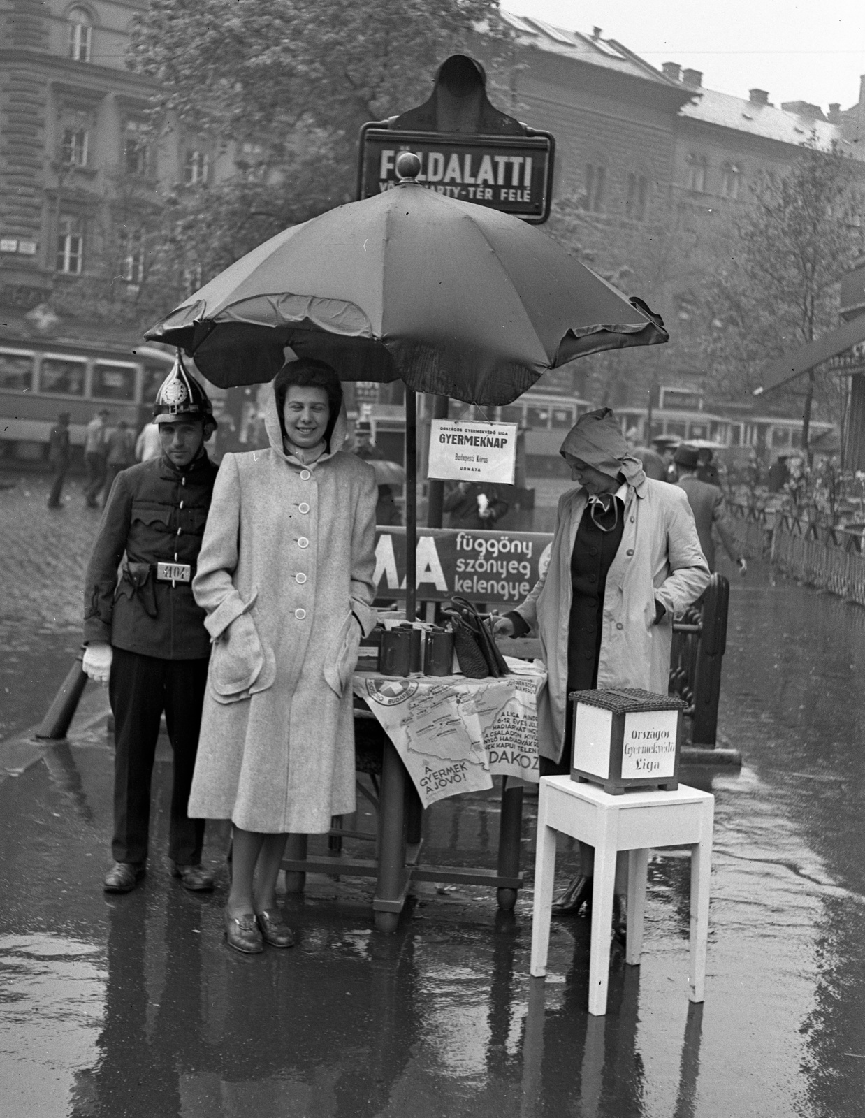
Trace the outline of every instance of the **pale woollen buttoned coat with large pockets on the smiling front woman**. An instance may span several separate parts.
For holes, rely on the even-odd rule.
[[[372,467],[283,448],[273,388],[269,449],[226,454],[192,584],[213,642],[189,815],[245,831],[323,834],[354,811],[350,680],[374,625]]]

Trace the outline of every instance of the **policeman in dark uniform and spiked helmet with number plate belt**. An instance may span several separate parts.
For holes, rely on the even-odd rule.
[[[107,682],[114,712],[115,864],[104,883],[114,893],[134,889],[145,872],[163,711],[174,754],[172,872],[187,889],[213,888],[201,866],[205,821],[188,817],[187,800],[210,654],[205,610],[196,605],[191,581],[217,474],[203,444],[217,425],[207,394],[180,354],[156,394],[153,421],[162,455],[117,474],[84,597],[84,671]]]

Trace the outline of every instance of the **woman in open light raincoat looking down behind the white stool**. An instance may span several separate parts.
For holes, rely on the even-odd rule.
[[[560,454],[579,484],[559,501],[549,567],[522,605],[496,623],[501,635],[531,629],[541,641],[548,671],[538,701],[542,776],[571,768],[570,691],[667,693],[673,616],[709,585],[687,498],[646,477],[609,408],[580,416]],[[580,851],[581,873],[553,911],[577,912],[591,897],[595,852],[583,844]],[[619,862],[617,896],[625,892]]]

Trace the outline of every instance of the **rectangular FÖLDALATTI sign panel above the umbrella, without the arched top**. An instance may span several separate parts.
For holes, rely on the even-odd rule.
[[[449,198],[477,202],[542,222],[550,216],[552,136],[483,136],[403,132],[364,125],[361,130],[359,198],[397,184],[401,151],[420,159],[416,182]]]

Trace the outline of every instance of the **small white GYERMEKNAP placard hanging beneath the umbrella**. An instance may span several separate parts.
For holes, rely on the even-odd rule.
[[[513,485],[515,423],[454,423],[434,419],[429,433],[428,477]]]

